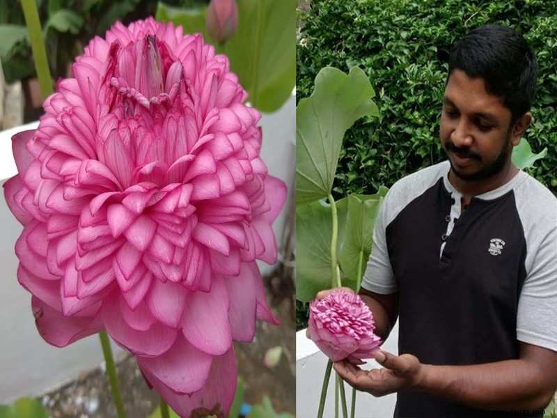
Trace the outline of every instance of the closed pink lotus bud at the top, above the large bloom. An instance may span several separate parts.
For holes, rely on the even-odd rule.
[[[205,15],[207,33],[217,42],[224,42],[234,35],[238,26],[236,0],[211,0]]]

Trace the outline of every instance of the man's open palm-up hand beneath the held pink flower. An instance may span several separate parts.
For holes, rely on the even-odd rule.
[[[384,366],[383,369],[365,371],[346,360],[336,362],[334,368],[352,387],[376,397],[418,388],[423,378],[423,368],[416,356],[396,356],[380,350],[375,354],[375,359]]]

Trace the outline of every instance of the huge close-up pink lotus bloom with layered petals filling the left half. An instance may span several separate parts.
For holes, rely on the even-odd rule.
[[[19,283],[42,337],[106,329],[180,415],[228,411],[233,341],[276,323],[256,259],[276,261],[286,188],[260,159],[260,114],[199,35],[115,24],[13,137],[4,185],[24,231]]]

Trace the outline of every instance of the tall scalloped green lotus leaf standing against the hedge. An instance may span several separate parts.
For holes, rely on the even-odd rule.
[[[296,109],[296,201],[316,201],[331,192],[346,130],[362,116],[375,114],[375,95],[366,73],[353,67],[346,75],[326,67],[315,77],[309,98]]]

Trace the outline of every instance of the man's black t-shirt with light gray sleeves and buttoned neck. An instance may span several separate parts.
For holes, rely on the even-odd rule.
[[[400,292],[399,353],[463,365],[516,359],[518,341],[557,351],[556,197],[519,171],[461,212],[449,169],[402,178],[377,216],[362,286]],[[510,415],[398,394],[395,417],[460,416]]]

